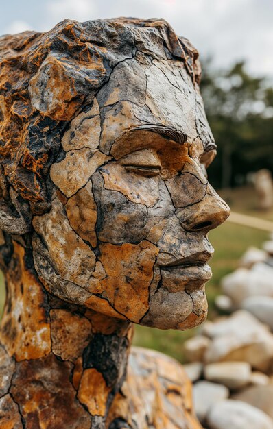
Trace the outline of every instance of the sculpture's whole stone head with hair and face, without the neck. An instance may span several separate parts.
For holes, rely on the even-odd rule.
[[[4,42],[5,259],[20,235],[61,299],[156,328],[203,321],[207,234],[229,210],[206,179],[216,146],[197,51],[156,20],[64,21]]]

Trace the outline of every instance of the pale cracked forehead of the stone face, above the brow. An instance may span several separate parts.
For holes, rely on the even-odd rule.
[[[100,147],[109,153],[115,140],[140,125],[159,125],[213,142],[197,84],[180,61],[144,55],[121,62],[97,95],[102,117]]]

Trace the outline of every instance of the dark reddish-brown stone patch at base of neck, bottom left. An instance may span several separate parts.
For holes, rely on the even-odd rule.
[[[27,428],[63,429],[67,422],[69,429],[90,429],[91,417],[69,381],[72,367],[52,354],[17,365],[10,391],[21,406]]]

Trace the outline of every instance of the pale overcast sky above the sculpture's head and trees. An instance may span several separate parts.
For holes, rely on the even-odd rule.
[[[165,18],[216,66],[244,59],[255,75],[273,77],[273,0],[0,1],[0,34],[47,31],[65,18]]]

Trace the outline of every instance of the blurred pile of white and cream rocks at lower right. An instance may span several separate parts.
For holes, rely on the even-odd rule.
[[[273,235],[222,280],[206,321],[185,342],[195,412],[209,429],[273,429]]]

